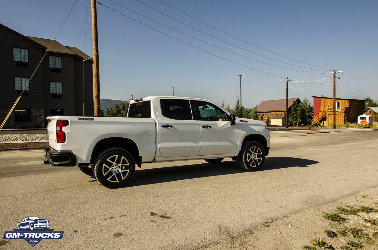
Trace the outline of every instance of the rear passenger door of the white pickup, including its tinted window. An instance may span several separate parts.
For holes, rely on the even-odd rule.
[[[158,147],[161,156],[197,156],[200,152],[200,124],[193,120],[189,99],[156,99],[158,115]]]

